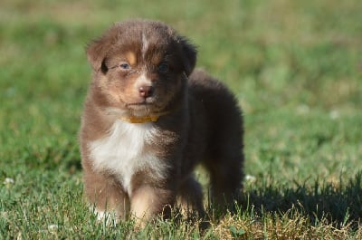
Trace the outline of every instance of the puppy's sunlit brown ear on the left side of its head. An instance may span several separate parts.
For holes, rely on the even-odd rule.
[[[102,36],[87,46],[87,57],[94,72],[107,72],[105,59],[110,50],[110,41],[107,37]]]

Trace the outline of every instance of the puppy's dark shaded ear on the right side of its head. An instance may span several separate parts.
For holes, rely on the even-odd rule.
[[[189,76],[195,68],[197,50],[195,46],[185,37],[179,36],[178,43],[181,43],[182,46],[182,62],[184,64],[185,73],[187,76]]]

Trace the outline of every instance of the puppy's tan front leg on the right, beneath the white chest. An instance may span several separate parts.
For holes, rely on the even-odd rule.
[[[143,226],[145,221],[157,214],[169,217],[175,199],[172,190],[143,185],[138,187],[130,197],[130,212],[136,217],[137,223]]]

